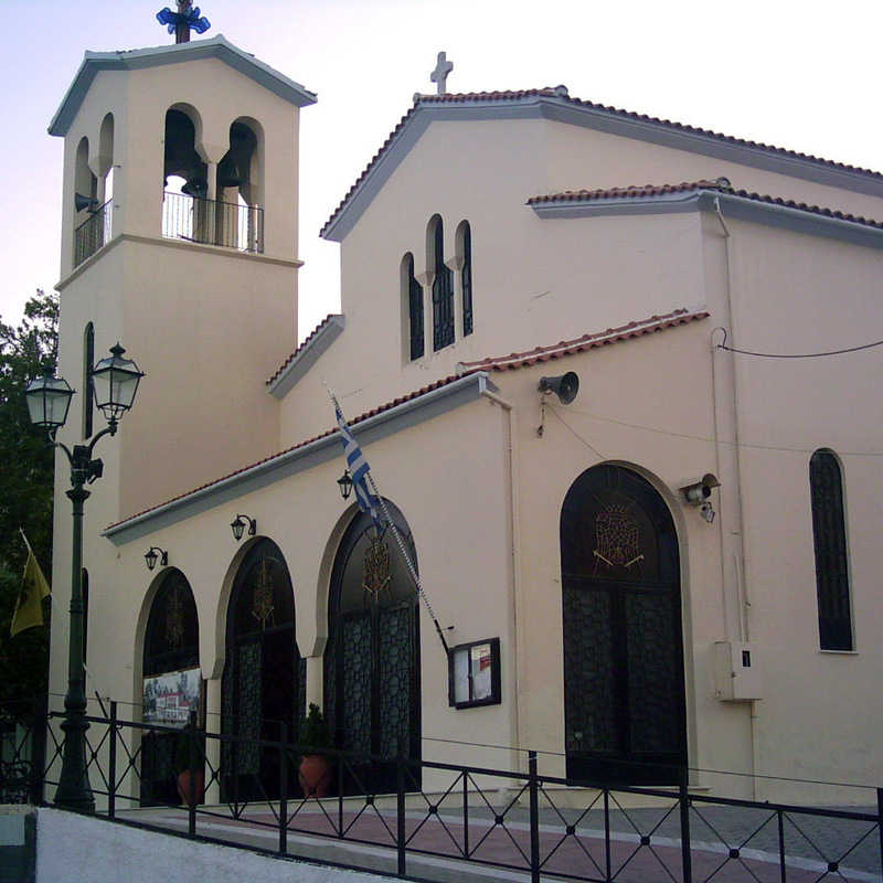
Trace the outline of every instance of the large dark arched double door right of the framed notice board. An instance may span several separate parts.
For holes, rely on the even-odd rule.
[[[674,522],[637,472],[597,466],[561,510],[567,778],[658,785],[687,764]]]

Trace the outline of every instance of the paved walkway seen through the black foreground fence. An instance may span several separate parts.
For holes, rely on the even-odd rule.
[[[869,809],[855,809],[865,811]],[[181,809],[132,810],[127,818],[173,830],[187,830]],[[563,818],[562,818],[563,816]],[[408,875],[437,881],[529,880],[530,828],[526,812],[511,809],[502,823],[493,811],[470,807],[461,815],[408,810]],[[325,815],[315,801],[289,804],[288,854],[317,861],[395,873],[394,811],[364,806],[343,812],[339,838],[338,807]],[[568,826],[571,826],[568,828]],[[610,879],[621,883],[682,883],[680,816],[666,809],[611,809],[609,871],[600,810],[541,810],[540,861],[544,880]],[[780,883],[779,829],[775,812],[694,802],[690,811],[693,881]],[[240,819],[226,806],[200,808],[198,834],[242,845],[276,850],[278,819],[266,804],[246,808]],[[785,880],[881,881],[881,843],[872,822],[827,819],[805,813],[783,818]],[[470,861],[462,861],[468,852]]]

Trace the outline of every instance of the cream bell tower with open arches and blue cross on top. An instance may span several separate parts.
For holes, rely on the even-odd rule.
[[[160,13],[175,33],[181,6]],[[98,530],[278,449],[264,381],[297,342],[299,114],[315,100],[219,35],[87,52],[55,114],[60,373],[86,393],[87,350],[119,340],[147,374]]]

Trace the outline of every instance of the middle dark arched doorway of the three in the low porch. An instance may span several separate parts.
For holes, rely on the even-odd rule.
[[[276,543],[259,540],[240,565],[227,607],[222,730],[237,738],[223,744],[225,800],[279,796],[279,751],[257,741],[296,740],[305,675],[288,567]]]

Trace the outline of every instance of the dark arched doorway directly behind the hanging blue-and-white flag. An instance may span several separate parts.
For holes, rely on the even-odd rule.
[[[414,566],[411,530],[387,502]],[[391,529],[377,535],[371,517],[357,515],[341,539],[331,571],[326,715],[334,744],[358,754],[421,756],[419,617],[417,593]],[[419,783],[418,770],[413,770]],[[347,794],[395,790],[394,764],[353,763]]]

